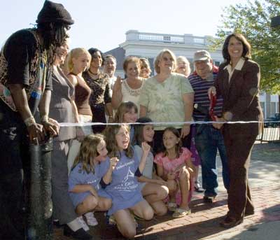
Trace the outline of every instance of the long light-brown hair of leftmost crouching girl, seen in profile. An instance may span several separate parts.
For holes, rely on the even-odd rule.
[[[99,155],[97,146],[102,141],[104,141],[104,136],[102,134],[90,134],[85,136],[71,169],[74,169],[78,163],[81,163],[83,171],[86,171],[87,174],[90,172],[94,173],[93,160]]]

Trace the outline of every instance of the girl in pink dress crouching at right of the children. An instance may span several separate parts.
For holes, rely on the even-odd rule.
[[[165,129],[162,140],[165,150],[155,155],[154,162],[158,176],[167,181],[169,211],[174,211],[174,218],[181,218],[190,214],[191,179],[195,176],[195,167],[190,159],[192,154],[188,148],[181,147],[180,133],[174,127]]]

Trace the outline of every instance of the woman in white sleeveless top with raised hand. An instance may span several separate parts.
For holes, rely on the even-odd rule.
[[[144,78],[139,77],[140,60],[138,57],[127,57],[123,70],[127,75],[125,80],[117,78],[113,87],[112,106],[117,109],[122,102],[132,101],[139,109],[139,96],[144,85]]]

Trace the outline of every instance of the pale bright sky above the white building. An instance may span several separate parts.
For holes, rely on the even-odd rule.
[[[13,32],[32,27],[44,0],[1,2],[0,46]],[[75,24],[71,48],[99,48],[103,52],[125,42],[136,29],[159,34],[215,36],[223,8],[245,0],[56,0],[71,13]]]

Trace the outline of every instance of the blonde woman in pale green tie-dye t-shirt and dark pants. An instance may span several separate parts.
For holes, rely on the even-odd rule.
[[[193,88],[188,78],[174,73],[176,57],[169,49],[162,50],[154,63],[157,75],[148,78],[139,99],[140,117],[147,116],[154,122],[185,122],[193,115]],[[162,135],[166,126],[155,126],[155,153],[162,150]],[[190,125],[176,125],[180,130],[183,146],[190,148]]]

